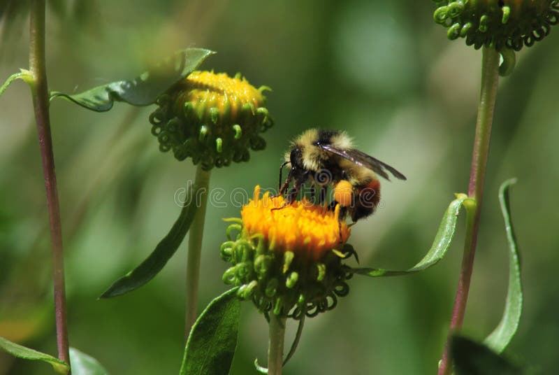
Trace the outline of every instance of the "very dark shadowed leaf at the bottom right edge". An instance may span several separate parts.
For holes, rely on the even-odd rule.
[[[457,375],[513,375],[522,374],[520,367],[487,346],[465,337],[453,336],[451,357]]]

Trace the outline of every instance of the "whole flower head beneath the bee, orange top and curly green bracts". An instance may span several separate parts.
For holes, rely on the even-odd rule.
[[[269,192],[260,197],[256,187],[242,219],[227,229],[229,241],[220,254],[233,267],[224,282],[239,285],[239,297],[251,299],[263,313],[300,319],[333,309],[337,297],[349,292],[345,281],[351,274],[342,260],[354,254],[339,214],[339,208],[307,200],[286,205]]]

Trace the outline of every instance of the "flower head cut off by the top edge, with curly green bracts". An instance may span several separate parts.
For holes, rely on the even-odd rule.
[[[435,22],[448,27],[450,39],[467,45],[521,50],[542,40],[559,22],[559,0],[435,1]]]

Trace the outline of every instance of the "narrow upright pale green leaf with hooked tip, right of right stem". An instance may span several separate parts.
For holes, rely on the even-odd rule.
[[[512,337],[520,322],[522,314],[522,283],[520,271],[520,254],[516,246],[516,235],[511,221],[511,208],[509,202],[509,187],[516,183],[516,178],[504,181],[499,188],[499,201],[504,218],[504,228],[507,230],[507,241],[509,243],[509,290],[507,300],[504,304],[499,325],[485,339],[484,344],[497,353],[502,353]]]

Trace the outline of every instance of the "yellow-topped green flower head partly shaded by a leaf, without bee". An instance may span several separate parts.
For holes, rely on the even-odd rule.
[[[259,135],[273,125],[263,90],[237,74],[194,71],[157,99],[150,115],[152,134],[163,152],[177,160],[191,157],[203,169],[249,160],[249,149],[262,150]]]

